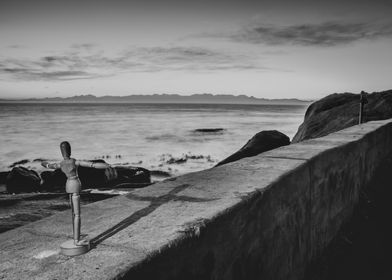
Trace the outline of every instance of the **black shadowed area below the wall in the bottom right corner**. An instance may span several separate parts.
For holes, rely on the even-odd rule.
[[[377,168],[359,203],[303,280],[392,279],[392,153]]]

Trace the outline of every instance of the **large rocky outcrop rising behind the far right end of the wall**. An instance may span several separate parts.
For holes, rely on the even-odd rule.
[[[392,90],[367,95],[363,122],[392,118]],[[358,124],[360,95],[331,94],[312,103],[292,142],[325,136]]]

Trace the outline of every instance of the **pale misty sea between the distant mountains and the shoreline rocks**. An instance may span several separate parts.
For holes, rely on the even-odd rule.
[[[17,162],[42,171],[40,162],[60,161],[59,144],[69,141],[77,159],[177,176],[211,168],[262,130],[292,138],[307,106],[2,103],[0,171]]]

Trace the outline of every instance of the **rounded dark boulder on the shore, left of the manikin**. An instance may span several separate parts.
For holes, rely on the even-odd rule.
[[[9,193],[36,192],[40,190],[40,182],[37,172],[19,166],[8,174],[6,188]]]

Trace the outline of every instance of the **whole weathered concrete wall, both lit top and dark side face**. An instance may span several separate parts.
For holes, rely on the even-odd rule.
[[[0,279],[300,279],[391,152],[370,122],[87,205],[74,258],[65,211],[0,235]]]

